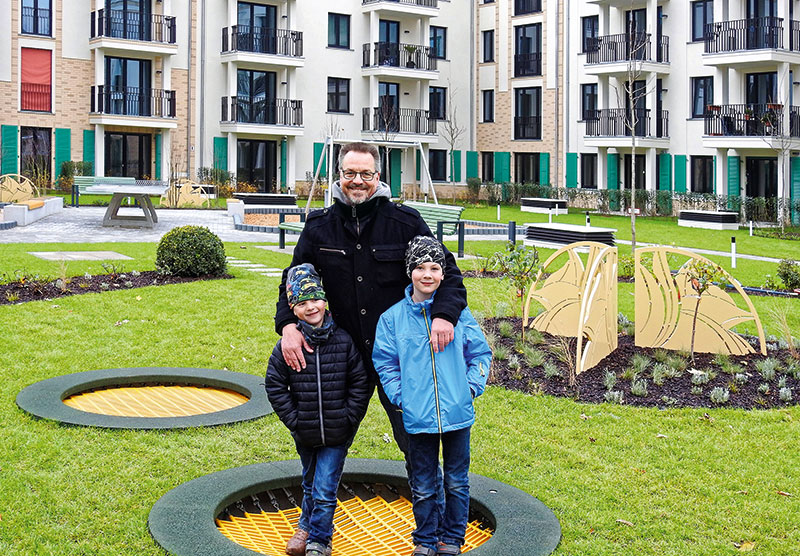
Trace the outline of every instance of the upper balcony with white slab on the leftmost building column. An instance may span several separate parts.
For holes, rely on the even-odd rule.
[[[97,10],[92,12],[89,47],[175,54],[178,51],[175,18],[160,14],[143,17],[124,10]]]

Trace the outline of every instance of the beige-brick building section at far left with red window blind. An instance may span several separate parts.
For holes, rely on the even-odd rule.
[[[189,170],[194,0],[0,0],[3,173]]]

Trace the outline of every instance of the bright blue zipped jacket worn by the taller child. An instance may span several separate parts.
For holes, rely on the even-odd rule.
[[[492,351],[469,308],[455,326],[455,338],[439,353],[431,347],[431,305],[405,299],[383,313],[375,333],[372,360],[394,405],[403,410],[409,434],[443,433],[475,422],[473,398],[489,378]],[[435,297],[434,292],[434,297]]]

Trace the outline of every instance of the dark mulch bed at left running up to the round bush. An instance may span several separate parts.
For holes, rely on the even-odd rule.
[[[97,293],[113,290],[128,290],[143,288],[145,286],[165,286],[167,284],[182,284],[198,280],[216,280],[233,278],[230,274],[223,276],[202,276],[199,278],[186,278],[161,274],[157,270],[143,272],[120,272],[113,274],[97,274],[92,276],[72,276],[67,278],[66,284],[60,279],[49,280],[38,277],[20,277],[7,284],[0,284],[0,305],[14,305],[27,301],[41,301],[43,299],[56,299],[68,295],[82,293]]]

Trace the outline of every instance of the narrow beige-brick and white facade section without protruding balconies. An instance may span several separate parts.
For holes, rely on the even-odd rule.
[[[563,183],[562,3],[478,0],[476,151],[468,176]]]

